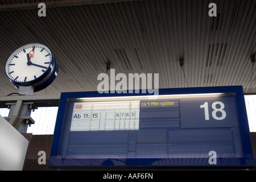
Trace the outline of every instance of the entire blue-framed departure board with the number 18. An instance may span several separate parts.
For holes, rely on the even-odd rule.
[[[49,167],[254,167],[241,86],[63,93]]]

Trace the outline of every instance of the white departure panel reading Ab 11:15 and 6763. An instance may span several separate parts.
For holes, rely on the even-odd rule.
[[[139,130],[139,101],[76,102],[70,131]]]

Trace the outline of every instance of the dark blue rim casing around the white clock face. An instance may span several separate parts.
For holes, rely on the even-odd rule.
[[[17,51],[19,48],[24,47],[24,46],[29,45],[29,44],[41,44],[41,45],[47,47],[45,44],[42,44],[42,43],[28,43],[28,44],[24,44],[23,46],[20,46],[20,47],[16,48],[15,51]],[[47,48],[49,49],[49,51],[51,52],[51,55],[52,55],[51,65],[52,65],[52,68],[53,68],[53,67],[54,67],[54,64],[55,64],[55,57],[53,56],[53,53],[52,53],[51,49],[50,49],[49,47],[47,47]],[[13,53],[14,53],[15,51],[13,51],[13,52],[9,55],[9,57],[7,58],[7,60],[6,60],[6,62],[5,62],[5,68],[6,68],[7,61],[9,60],[10,56],[13,55]],[[40,77],[38,77],[38,78],[36,78],[35,80],[32,80],[32,81],[16,82],[16,81],[12,80],[12,79],[7,75],[6,69],[5,69],[5,75],[9,78],[9,80],[10,80],[11,82],[14,83],[15,86],[16,86],[16,85],[20,85],[20,86],[30,86],[30,85],[34,85],[36,82],[39,82],[39,81],[43,80],[43,79],[48,75],[48,73],[52,71],[51,65],[49,65],[48,69],[46,70],[46,72],[43,73],[43,75],[41,75]]]

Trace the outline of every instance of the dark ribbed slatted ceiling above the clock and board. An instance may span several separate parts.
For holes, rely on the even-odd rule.
[[[59,64],[55,81],[36,95],[96,91],[106,63],[115,74],[159,73],[159,88],[256,92],[255,0],[40,2],[46,17],[37,0],[0,1],[0,96],[17,92],[5,75],[7,58],[31,42],[46,44]],[[208,15],[212,2],[216,17]]]

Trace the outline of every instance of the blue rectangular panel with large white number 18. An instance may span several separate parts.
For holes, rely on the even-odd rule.
[[[238,127],[234,96],[185,98],[180,100],[180,106],[183,127]]]

